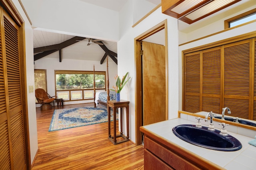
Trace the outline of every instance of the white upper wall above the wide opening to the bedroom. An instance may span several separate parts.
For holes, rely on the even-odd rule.
[[[40,29],[62,31],[68,35],[118,41],[118,12],[80,0],[22,0]]]

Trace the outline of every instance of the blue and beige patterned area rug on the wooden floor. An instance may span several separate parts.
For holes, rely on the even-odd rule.
[[[113,111],[111,109],[110,120],[113,121]],[[116,113],[118,120],[118,113]],[[92,125],[108,121],[108,111],[105,106],[97,107],[76,107],[68,109],[56,109],[52,115],[52,121],[49,127],[50,131],[58,131],[73,127]]]

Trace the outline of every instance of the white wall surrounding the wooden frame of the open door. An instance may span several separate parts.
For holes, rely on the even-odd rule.
[[[128,2],[120,12],[120,41],[118,41],[118,74],[129,72],[129,86],[121,92],[121,98],[130,101],[130,139],[135,143],[135,80],[136,68],[134,59],[134,38],[167,19],[168,29],[168,117],[178,115],[178,25],[177,20],[162,14],[161,7],[132,28],[131,8],[134,4]],[[125,133],[125,132],[124,132]]]

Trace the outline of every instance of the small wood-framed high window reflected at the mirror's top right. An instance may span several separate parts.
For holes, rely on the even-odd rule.
[[[256,20],[256,9],[250,10],[224,21],[225,29],[249,23]]]

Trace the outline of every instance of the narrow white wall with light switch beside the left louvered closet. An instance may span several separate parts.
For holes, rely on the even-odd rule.
[[[34,51],[33,51],[33,30],[32,27],[20,6],[18,0],[12,0],[21,17],[24,20],[25,25],[25,41],[26,41],[26,79],[27,79],[27,105],[28,105],[28,126],[30,136],[30,156],[31,164],[36,156],[38,150],[37,140],[37,127],[36,127],[36,106],[35,106],[35,93],[29,93],[28,86],[34,87]]]

